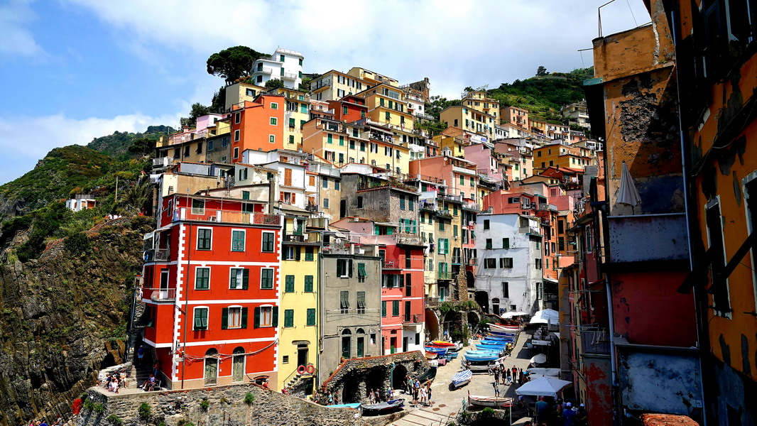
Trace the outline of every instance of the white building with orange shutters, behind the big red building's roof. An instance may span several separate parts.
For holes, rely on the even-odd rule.
[[[307,154],[283,149],[268,152],[246,149],[241,153],[241,157],[242,163],[263,166],[279,172],[278,182],[276,182],[276,189],[279,191],[277,200],[305,211],[307,206],[305,158]]]

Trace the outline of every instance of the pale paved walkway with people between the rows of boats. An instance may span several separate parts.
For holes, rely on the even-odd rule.
[[[529,360],[534,353],[525,346],[526,340],[531,337],[533,331],[522,331],[519,334],[518,341],[515,348],[512,350],[512,356],[506,359],[506,366],[512,368],[515,365],[518,368],[524,370],[528,368]],[[471,340],[471,344],[477,343],[478,340]],[[410,396],[403,396],[406,398],[407,405],[405,406],[405,415],[400,420],[394,421],[391,426],[437,426],[439,424],[446,425],[450,421],[453,421],[454,417],[463,408],[463,401],[467,400],[468,393],[472,395],[480,396],[494,396],[494,376],[488,375],[486,372],[474,373],[473,378],[469,384],[459,389],[450,387],[452,383],[452,376],[457,372],[463,370],[460,359],[463,358],[463,353],[467,350],[474,350],[472,346],[464,347],[460,350],[460,354],[456,359],[453,359],[449,364],[438,367],[437,375],[434,379],[434,383],[431,384],[431,400],[434,403],[430,407],[423,407],[419,409],[413,408],[410,405]],[[516,395],[517,384],[512,386],[500,385],[500,395],[512,397],[513,400],[518,399]],[[401,395],[401,393],[400,393]],[[517,418],[525,415],[525,410],[514,410],[512,420],[516,421]],[[369,418],[363,418],[368,420]]]

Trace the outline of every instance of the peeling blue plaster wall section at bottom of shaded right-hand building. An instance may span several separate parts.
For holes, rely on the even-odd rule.
[[[625,352],[618,347],[624,409],[692,415],[701,404],[695,356]]]

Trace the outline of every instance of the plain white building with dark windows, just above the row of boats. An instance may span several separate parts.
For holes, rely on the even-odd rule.
[[[475,232],[475,300],[491,313],[542,309],[539,218],[479,213]]]

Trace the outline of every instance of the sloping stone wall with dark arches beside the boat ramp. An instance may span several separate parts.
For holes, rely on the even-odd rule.
[[[333,393],[338,397],[339,403],[367,403],[369,390],[386,390],[391,385],[392,374],[398,378],[401,376],[400,380],[403,380],[403,372],[415,378],[428,371],[428,368],[428,362],[418,350],[347,359],[323,382],[320,389],[321,398]]]

